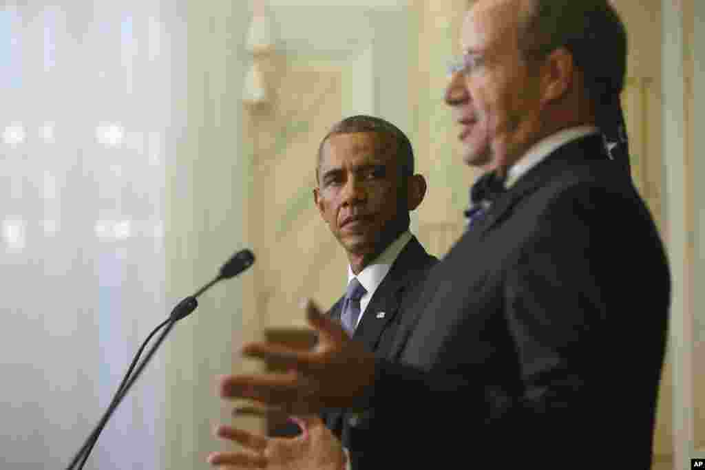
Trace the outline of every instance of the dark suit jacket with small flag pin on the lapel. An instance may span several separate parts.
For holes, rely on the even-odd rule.
[[[412,237],[372,295],[353,338],[363,342],[379,357],[386,357],[400,319],[414,303],[429,268],[437,261],[435,256],[426,252],[416,237]],[[344,298],[343,295],[329,310],[329,315],[335,319],[341,318]],[[372,419],[341,410],[326,412],[323,418],[326,426],[348,447],[353,464],[362,459],[367,446],[367,431],[374,426]]]

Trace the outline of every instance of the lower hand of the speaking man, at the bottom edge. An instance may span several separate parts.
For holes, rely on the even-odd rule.
[[[317,416],[292,418],[302,434],[295,438],[267,438],[233,428],[218,426],[216,437],[245,447],[240,452],[212,452],[208,463],[228,469],[343,470],[346,457],[340,441]]]

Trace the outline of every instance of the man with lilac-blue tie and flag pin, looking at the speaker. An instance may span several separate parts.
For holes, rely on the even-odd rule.
[[[414,304],[419,285],[438,261],[409,231],[409,212],[426,192],[423,176],[414,174],[411,143],[384,119],[345,118],[321,141],[316,180],[314,202],[350,261],[347,292],[328,316],[340,321],[369,352],[385,357],[403,312]],[[350,460],[361,459],[367,429],[374,427],[372,416],[335,409],[321,417],[349,451]],[[303,435],[321,426],[311,416],[295,420]],[[238,435],[233,428],[220,432]],[[299,441],[269,444],[285,452]]]

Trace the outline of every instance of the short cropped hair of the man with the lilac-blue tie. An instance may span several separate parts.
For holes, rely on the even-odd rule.
[[[331,135],[353,134],[355,132],[375,132],[382,137],[385,137],[389,142],[396,143],[396,157],[397,161],[400,163],[403,181],[405,181],[407,177],[414,174],[414,150],[411,147],[409,138],[406,137],[404,132],[388,120],[358,114],[357,116],[350,116],[335,123],[326,134],[326,137],[321,140],[316,159],[317,183],[319,178],[319,168],[321,167],[321,159],[323,158],[323,147],[326,144],[326,140],[328,140]]]

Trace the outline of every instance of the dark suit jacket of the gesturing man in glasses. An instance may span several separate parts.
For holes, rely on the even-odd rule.
[[[600,137],[529,170],[424,285],[356,469],[649,468],[670,276]]]

